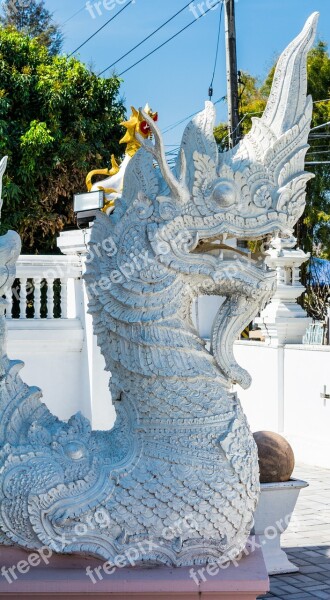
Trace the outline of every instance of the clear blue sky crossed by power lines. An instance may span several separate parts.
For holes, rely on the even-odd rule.
[[[188,0],[135,0],[123,13],[84,46],[77,56],[99,72],[140,42]],[[54,18],[63,24],[64,51],[70,53],[118,12],[128,0],[46,0]],[[194,20],[201,9],[195,0],[155,37],[118,64],[120,73]],[[115,5],[114,8],[111,5]],[[77,11],[80,12],[74,16]],[[300,31],[314,11],[321,13],[319,37],[330,42],[330,0],[238,0],[236,3],[238,67],[263,78],[274,59]],[[101,14],[98,14],[101,12]],[[160,51],[123,75],[122,94],[127,107],[147,101],[159,112],[166,127],[202,109],[213,71],[220,9],[210,11]],[[93,18],[93,16],[94,18]],[[69,20],[68,20],[69,19]],[[110,72],[109,72],[110,74]],[[214,80],[214,100],[226,94],[224,29],[222,23],[219,61]],[[226,105],[218,105],[218,120],[226,118]],[[165,136],[166,144],[180,142],[184,125]]]

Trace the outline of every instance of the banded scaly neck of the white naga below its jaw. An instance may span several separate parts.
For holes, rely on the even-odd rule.
[[[190,286],[169,277],[141,292],[136,283],[114,287],[107,306],[114,397],[129,397],[140,416],[156,420],[218,414],[228,384],[193,325]]]

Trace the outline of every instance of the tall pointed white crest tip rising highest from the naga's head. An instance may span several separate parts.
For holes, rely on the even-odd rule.
[[[313,45],[319,13],[313,13],[304,29],[284,50],[277,63],[272,90],[262,121],[277,137],[291,129],[306,109],[307,53]]]

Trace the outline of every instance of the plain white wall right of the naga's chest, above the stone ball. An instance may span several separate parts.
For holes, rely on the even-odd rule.
[[[235,357],[252,375],[249,390],[238,388],[252,431],[283,434],[296,460],[330,469],[330,346],[240,341]]]

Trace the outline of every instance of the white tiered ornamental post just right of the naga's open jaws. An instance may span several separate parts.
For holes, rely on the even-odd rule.
[[[296,238],[275,238],[267,252],[266,263],[277,272],[277,290],[271,302],[255,319],[266,343],[274,346],[301,344],[311,319],[297,303],[305,291],[300,281],[300,267],[309,254],[296,248]]]

